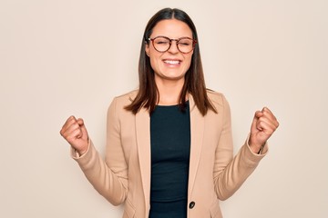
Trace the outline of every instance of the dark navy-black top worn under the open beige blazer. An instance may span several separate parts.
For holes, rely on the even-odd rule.
[[[158,105],[150,116],[150,218],[187,217],[190,107]]]

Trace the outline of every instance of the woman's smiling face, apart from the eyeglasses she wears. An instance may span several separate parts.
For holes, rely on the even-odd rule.
[[[176,19],[162,20],[153,28],[150,38],[153,39],[158,36],[166,36],[169,39],[179,39],[181,37],[189,37],[192,39],[192,32],[190,27],[182,21]],[[154,42],[157,46],[162,45],[162,42]],[[179,45],[180,50],[182,46]],[[177,46],[177,41],[172,41],[169,50],[166,52],[159,52],[155,49],[153,42],[149,41],[146,45],[146,53],[150,58],[150,64],[155,72],[155,81],[179,81],[184,83],[184,75],[190,68],[191,56],[190,53],[181,53]]]

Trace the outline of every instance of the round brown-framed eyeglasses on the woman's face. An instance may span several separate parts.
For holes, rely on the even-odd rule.
[[[172,45],[172,41],[177,42],[178,50],[180,53],[183,54],[190,53],[197,43],[197,40],[191,39],[190,37],[170,39],[166,36],[157,36],[155,38],[148,38],[148,40],[152,42],[152,45],[154,46],[156,51],[160,53],[165,53],[166,51],[168,51],[170,46]]]

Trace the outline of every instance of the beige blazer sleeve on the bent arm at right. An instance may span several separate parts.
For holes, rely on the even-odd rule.
[[[215,151],[214,186],[220,200],[226,200],[235,193],[241,184],[251,175],[258,163],[268,151],[264,145],[261,154],[254,154],[248,144],[249,137],[240,151],[233,157],[233,144],[231,136],[231,109],[227,100],[221,95],[222,130],[219,143]]]

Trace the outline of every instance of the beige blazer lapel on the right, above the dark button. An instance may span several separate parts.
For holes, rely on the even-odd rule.
[[[188,198],[190,199],[190,194],[195,182],[195,177],[197,169],[200,163],[200,154],[204,134],[204,116],[200,114],[191,94],[189,95],[190,101],[190,173],[189,173],[189,183],[188,183]]]

